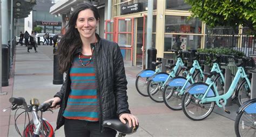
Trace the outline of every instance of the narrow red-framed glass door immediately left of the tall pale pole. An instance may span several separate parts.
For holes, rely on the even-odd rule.
[[[137,18],[136,66],[145,69],[146,60],[146,15]]]

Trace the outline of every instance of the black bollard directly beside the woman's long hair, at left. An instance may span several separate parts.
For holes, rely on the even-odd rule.
[[[57,47],[53,48],[53,84],[60,85],[63,84],[63,74],[59,72],[59,61],[58,55],[55,55]]]

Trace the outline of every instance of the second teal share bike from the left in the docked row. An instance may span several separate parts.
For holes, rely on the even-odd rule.
[[[164,87],[166,86],[167,82],[170,80],[170,78],[182,75],[186,76],[188,74],[187,69],[182,69],[182,68],[187,68],[183,62],[183,60],[187,60],[188,57],[194,57],[195,52],[186,52],[183,51],[181,52],[181,57],[178,57],[176,65],[174,68],[170,71],[170,74],[167,73],[158,73],[150,77],[149,82],[147,83],[147,93],[150,96],[152,100],[155,102],[163,102],[163,90]],[[177,74],[177,70],[179,69],[179,73]],[[185,71],[184,71],[185,70]],[[198,73],[194,73],[193,77],[198,77]]]

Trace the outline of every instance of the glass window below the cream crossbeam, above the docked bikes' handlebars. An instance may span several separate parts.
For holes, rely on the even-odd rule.
[[[200,35],[177,35],[165,34],[164,36],[164,52],[170,52],[171,49],[197,49],[201,46]]]

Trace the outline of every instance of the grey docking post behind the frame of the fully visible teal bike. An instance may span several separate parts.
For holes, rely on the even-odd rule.
[[[226,93],[228,91],[228,89],[230,89],[230,85],[232,83],[231,80],[231,70],[226,68],[225,69],[225,81],[224,81],[224,93]],[[227,99],[227,103],[226,106],[231,106],[232,105],[232,97]]]

